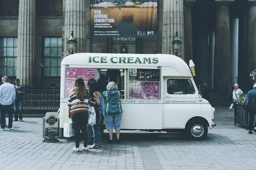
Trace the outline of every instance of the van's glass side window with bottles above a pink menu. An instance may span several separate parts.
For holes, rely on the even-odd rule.
[[[160,69],[129,69],[128,99],[160,100]]]

